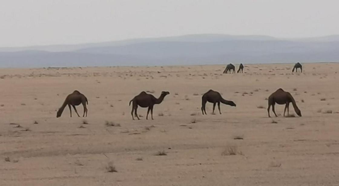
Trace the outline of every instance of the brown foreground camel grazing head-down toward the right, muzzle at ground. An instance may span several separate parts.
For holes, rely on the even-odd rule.
[[[274,105],[277,103],[279,105],[285,105],[285,109],[284,109],[284,116],[285,116],[285,112],[286,112],[286,108],[287,108],[287,115],[289,115],[289,106],[290,103],[292,102],[292,105],[294,107],[294,110],[296,111],[296,113],[301,116],[301,111],[299,110],[299,108],[297,107],[296,101],[294,100],[294,98],[292,97],[292,95],[290,94],[290,92],[285,92],[283,89],[279,88],[277,91],[273,92],[271,94],[270,97],[268,97],[268,108],[267,108],[267,112],[268,112],[268,117],[270,116],[270,107],[272,105],[272,111],[273,113],[277,116],[277,114],[275,113],[274,110]]]

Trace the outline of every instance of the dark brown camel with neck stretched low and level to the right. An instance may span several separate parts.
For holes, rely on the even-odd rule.
[[[206,102],[210,102],[213,103],[213,114],[214,114],[214,109],[215,109],[215,105],[216,103],[218,103],[218,109],[219,109],[219,113],[221,114],[220,111],[220,102],[226,105],[230,105],[230,106],[234,106],[236,107],[237,105],[233,102],[233,101],[228,101],[228,100],[224,100],[220,93],[214,90],[208,90],[203,96],[202,96],[202,106],[201,106],[201,111],[202,111],[202,115],[206,113]]]

